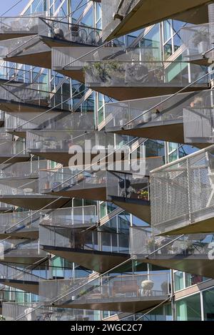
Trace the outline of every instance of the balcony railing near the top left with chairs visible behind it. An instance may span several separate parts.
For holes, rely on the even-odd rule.
[[[102,31],[86,25],[69,24],[65,19],[40,19],[39,35],[56,38],[61,41],[99,46]]]

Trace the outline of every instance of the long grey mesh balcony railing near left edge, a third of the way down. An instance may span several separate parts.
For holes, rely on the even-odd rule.
[[[34,118],[34,120],[31,120]],[[49,113],[5,113],[4,127],[7,130],[93,130],[93,113],[49,111]]]

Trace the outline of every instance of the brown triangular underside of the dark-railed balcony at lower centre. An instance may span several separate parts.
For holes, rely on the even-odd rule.
[[[68,260],[68,262],[80,264],[81,267],[91,269],[98,273],[106,272],[130,258],[128,254],[121,254],[119,252],[98,252],[95,250],[70,249],[47,245],[43,245],[42,247],[46,252],[62,257]]]

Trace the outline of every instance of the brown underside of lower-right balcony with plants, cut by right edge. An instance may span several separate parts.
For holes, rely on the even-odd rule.
[[[141,258],[143,257],[137,256],[137,259]],[[214,279],[214,259],[208,259],[208,254],[190,254],[190,256],[179,254],[174,257],[172,257],[172,254],[156,254],[156,258],[151,256],[142,260],[164,269],[175,269]]]

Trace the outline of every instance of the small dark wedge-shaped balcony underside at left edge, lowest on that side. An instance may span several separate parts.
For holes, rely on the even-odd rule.
[[[32,282],[29,280],[0,278],[0,283],[5,284],[6,286],[14,287],[15,289],[21,289],[22,291],[25,291],[25,292],[39,294],[39,282]]]

